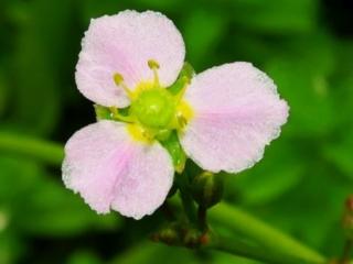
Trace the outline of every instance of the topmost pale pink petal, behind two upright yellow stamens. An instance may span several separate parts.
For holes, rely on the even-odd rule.
[[[83,95],[106,107],[127,107],[129,100],[114,82],[119,73],[135,89],[153,79],[148,61],[158,62],[160,84],[174,82],[183,66],[183,38],[171,20],[161,13],[124,11],[90,21],[82,42],[76,82]]]

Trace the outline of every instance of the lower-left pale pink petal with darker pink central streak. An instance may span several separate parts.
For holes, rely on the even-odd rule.
[[[67,142],[63,179],[97,212],[107,213],[111,208],[140,219],[164,201],[173,166],[159,143],[136,142],[125,124],[99,121]]]

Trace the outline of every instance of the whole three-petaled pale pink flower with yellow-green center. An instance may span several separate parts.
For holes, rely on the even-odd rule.
[[[160,142],[172,131],[186,155],[214,173],[253,166],[279,135],[288,106],[252,64],[214,67],[186,79],[178,92],[165,89],[184,55],[180,32],[161,13],[124,11],[92,20],[76,84],[111,118],[68,140],[63,179],[97,212],[140,219],[163,204],[174,168]]]

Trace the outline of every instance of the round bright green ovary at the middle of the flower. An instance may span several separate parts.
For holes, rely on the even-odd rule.
[[[150,129],[167,129],[175,116],[175,100],[163,88],[142,90],[131,105],[131,113]]]

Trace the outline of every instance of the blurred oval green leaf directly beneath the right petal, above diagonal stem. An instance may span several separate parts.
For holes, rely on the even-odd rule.
[[[228,177],[228,196],[237,190],[243,204],[266,205],[300,183],[303,165],[289,143],[274,142],[266,148],[264,158],[253,168]]]

